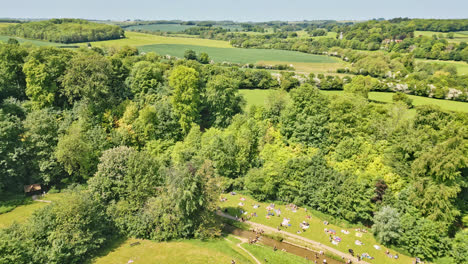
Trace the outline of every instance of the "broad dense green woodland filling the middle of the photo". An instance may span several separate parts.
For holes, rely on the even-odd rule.
[[[370,76],[301,84],[206,56],[0,44],[0,191],[69,189],[0,230],[0,263],[83,263],[123,235],[217,236],[230,190],[372,225],[425,260],[468,261],[466,114],[410,110],[403,93],[370,102]],[[246,109],[240,88],[272,93]]]

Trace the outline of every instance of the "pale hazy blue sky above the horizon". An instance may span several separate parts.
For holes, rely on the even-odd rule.
[[[366,20],[468,18],[468,0],[0,0],[0,18]]]

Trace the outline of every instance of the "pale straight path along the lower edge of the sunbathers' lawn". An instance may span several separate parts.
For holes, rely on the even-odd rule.
[[[225,217],[225,218],[228,218],[228,219],[231,219],[231,220],[239,221],[234,216],[223,213],[221,211],[218,211],[217,214],[219,216],[222,216],[222,217]],[[275,233],[275,234],[281,234],[281,235],[284,235],[285,237],[288,237],[288,238],[294,238],[295,240],[300,240],[302,242],[306,242],[308,244],[313,245],[314,247],[317,247],[317,248],[320,248],[322,250],[326,250],[328,252],[331,252],[334,255],[344,257],[344,258],[347,258],[347,259],[351,259],[354,263],[358,262],[357,258],[351,256],[350,254],[343,253],[343,252],[341,252],[341,251],[339,251],[337,249],[334,249],[332,247],[329,247],[329,246],[324,245],[322,243],[319,243],[317,241],[314,241],[314,240],[311,240],[311,239],[308,239],[308,238],[305,238],[305,237],[302,237],[302,236],[298,236],[296,234],[292,234],[292,233],[289,233],[289,232],[286,232],[286,231],[283,231],[283,230],[278,231],[276,228],[266,226],[266,225],[262,225],[262,224],[258,224],[258,223],[254,223],[254,222],[251,222],[251,221],[245,221],[244,223],[250,224],[250,225],[252,225],[253,227],[256,227],[256,228],[261,228],[261,229],[263,229],[265,231],[269,231],[269,232],[272,232],[272,233]],[[359,261],[358,263],[369,264],[368,262],[365,262],[363,260]]]

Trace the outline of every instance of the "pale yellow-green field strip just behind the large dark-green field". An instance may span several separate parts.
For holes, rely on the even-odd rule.
[[[217,48],[233,48],[229,42],[222,40],[199,39],[199,38],[178,38],[178,37],[163,37],[139,32],[125,32],[125,38],[95,41],[91,42],[93,46],[145,46],[154,44],[180,44],[180,45],[198,45],[205,47]]]

